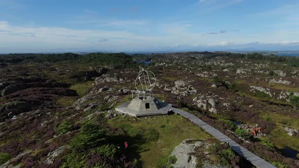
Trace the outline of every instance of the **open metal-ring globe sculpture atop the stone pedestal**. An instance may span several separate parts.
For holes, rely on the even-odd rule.
[[[152,90],[157,84],[157,78],[152,71],[140,70],[135,79],[135,88],[138,92],[137,98],[145,99],[146,96],[152,97]]]

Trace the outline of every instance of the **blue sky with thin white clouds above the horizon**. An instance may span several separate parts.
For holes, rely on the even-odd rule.
[[[298,9],[298,0],[0,0],[0,53],[299,50]]]

